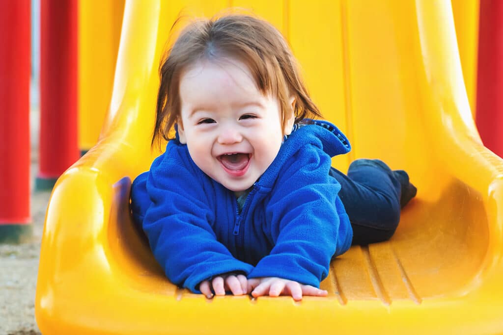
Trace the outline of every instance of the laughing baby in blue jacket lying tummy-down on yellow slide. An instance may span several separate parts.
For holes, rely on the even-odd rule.
[[[152,138],[169,142],[131,191],[173,283],[208,298],[324,296],[333,257],[393,235],[416,192],[408,175],[379,160],[332,168],[351,147],[320,117],[269,23],[229,15],[181,32],[160,66]]]

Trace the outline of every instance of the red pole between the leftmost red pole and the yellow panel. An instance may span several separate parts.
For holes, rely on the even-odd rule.
[[[40,3],[40,148],[36,188],[50,189],[79,158],[77,1]]]

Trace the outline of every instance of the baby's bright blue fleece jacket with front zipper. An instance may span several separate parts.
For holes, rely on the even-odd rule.
[[[336,126],[314,121],[293,132],[255,182],[239,212],[234,193],[208,177],[178,140],[133,182],[131,209],[155,259],[175,284],[226,272],[281,277],[319,287],[353,231],[328,175],[331,157],[350,151]]]

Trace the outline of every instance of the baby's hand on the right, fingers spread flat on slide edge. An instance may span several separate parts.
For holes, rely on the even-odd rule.
[[[248,279],[248,292],[255,298],[261,295],[277,297],[279,295],[291,295],[293,300],[302,300],[302,295],[324,297],[327,291],[320,290],[311,285],[302,285],[296,281],[277,277],[264,277]]]

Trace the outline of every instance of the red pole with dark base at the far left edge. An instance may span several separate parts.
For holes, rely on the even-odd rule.
[[[30,225],[30,0],[0,0],[0,242]]]

